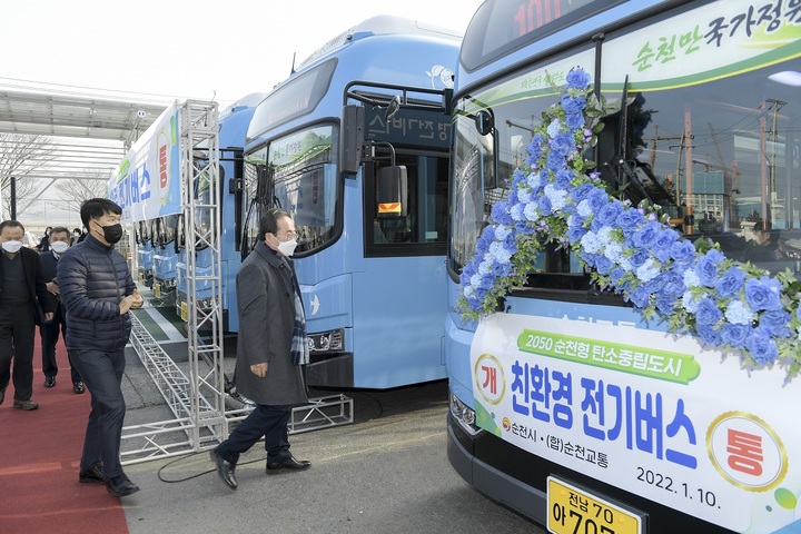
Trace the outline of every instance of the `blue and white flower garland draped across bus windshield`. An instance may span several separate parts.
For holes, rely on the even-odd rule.
[[[674,334],[736,354],[746,368],[801,370],[801,285],[790,271],[771,277],[726,258],[716,244],[684,239],[659,207],[610,195],[584,154],[603,128],[590,76],[575,68],[561,100],[543,112],[528,157],[461,275],[464,318],[492,315],[498,299],[523,286],[548,243],[571,247],[592,280],[623,295],[645,319],[668,320]]]

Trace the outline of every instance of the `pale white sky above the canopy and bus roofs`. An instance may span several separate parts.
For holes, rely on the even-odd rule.
[[[28,0],[0,17],[0,89],[216,99],[286,79],[352,26],[394,14],[463,32],[482,0]]]

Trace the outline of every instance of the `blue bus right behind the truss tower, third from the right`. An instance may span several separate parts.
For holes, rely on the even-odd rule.
[[[236,275],[241,263],[239,253],[239,239],[241,238],[241,185],[243,185],[243,150],[245,147],[245,134],[247,132],[250,119],[256,110],[256,105],[265,97],[265,93],[254,92],[240,98],[228,108],[226,108],[219,118],[219,180],[221,189],[220,200],[220,246],[219,254],[221,260],[221,288],[222,298],[222,328],[225,332],[239,332],[239,315],[236,313]],[[202,146],[198,147],[202,150]],[[196,158],[202,159],[202,154],[196,155]],[[198,184],[195,188],[197,201],[201,205],[208,205],[208,198],[211,194],[208,182]],[[208,214],[205,210],[198,212],[195,217],[195,225],[202,229],[208,227],[206,218]],[[182,220],[177,220],[176,234],[178,236],[178,249],[186,254],[186,239],[182,231]],[[211,249],[209,247],[199,247],[196,244],[196,270],[198,275],[208,275],[211,270]],[[210,306],[211,288],[208,283],[198,284],[197,301],[198,306],[208,308]],[[186,258],[179,258],[176,264],[176,313],[184,322],[188,318],[187,310],[187,280],[186,280]],[[230,310],[235,313],[230,313]]]

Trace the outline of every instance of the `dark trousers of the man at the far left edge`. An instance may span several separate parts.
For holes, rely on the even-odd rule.
[[[14,400],[30,400],[33,395],[33,305],[0,306],[0,388],[11,375],[13,358]]]

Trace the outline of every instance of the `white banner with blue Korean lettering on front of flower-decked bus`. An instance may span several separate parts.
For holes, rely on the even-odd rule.
[[[799,517],[798,384],[688,336],[496,314],[471,348],[476,423],[532,454],[740,533]]]

